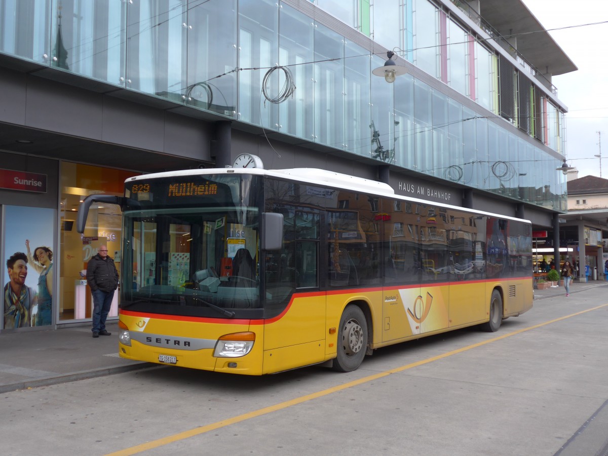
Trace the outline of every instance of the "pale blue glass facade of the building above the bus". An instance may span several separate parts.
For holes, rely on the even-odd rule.
[[[407,48],[404,58],[485,109],[473,111],[411,75],[388,85],[371,75],[384,55],[269,0],[0,0],[0,52],[447,181],[565,207],[565,179],[555,171],[561,160],[542,149],[564,153],[564,114],[544,98],[544,116],[536,117],[543,126],[529,140],[488,116],[498,106],[496,54],[471,41],[454,18],[426,0],[314,4],[355,28],[371,11],[370,35],[382,46],[395,40],[393,46]],[[373,26],[387,16],[390,30]],[[293,94],[271,102],[288,78]]]

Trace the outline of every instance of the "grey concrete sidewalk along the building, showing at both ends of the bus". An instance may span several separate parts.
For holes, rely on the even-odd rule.
[[[607,281],[577,282],[570,287],[570,293],[607,285]],[[564,287],[534,290],[534,300],[564,294]],[[0,334],[0,393],[157,365],[119,358],[117,322],[107,326],[112,335],[97,339],[91,337],[91,323],[58,330]]]

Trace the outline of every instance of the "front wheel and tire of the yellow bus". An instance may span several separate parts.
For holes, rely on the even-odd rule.
[[[360,308],[348,305],[340,318],[337,333],[337,356],[332,368],[338,372],[356,370],[367,351],[367,320]]]

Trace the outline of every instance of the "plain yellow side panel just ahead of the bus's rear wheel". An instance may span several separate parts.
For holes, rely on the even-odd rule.
[[[450,284],[450,326],[481,322],[488,318],[486,284],[483,282],[452,282]]]

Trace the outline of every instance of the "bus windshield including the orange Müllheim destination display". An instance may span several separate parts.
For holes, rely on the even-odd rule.
[[[218,174],[127,182],[120,308],[261,318],[259,179]]]

